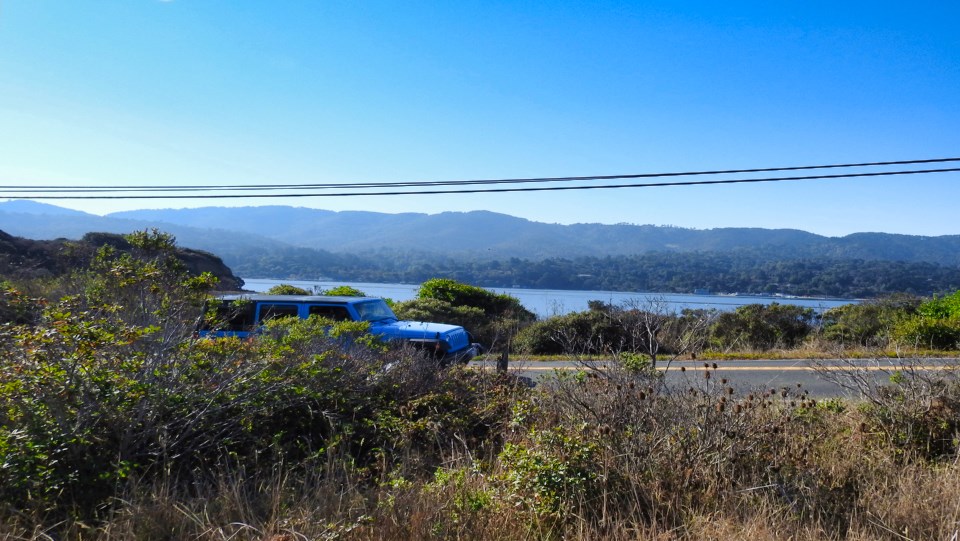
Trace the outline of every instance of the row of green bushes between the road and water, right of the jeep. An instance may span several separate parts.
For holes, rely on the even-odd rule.
[[[817,314],[791,304],[748,304],[733,311],[683,310],[656,300],[554,316],[523,330],[514,342],[530,354],[657,354],[765,352],[798,347],[840,349],[960,349],[960,291],[927,301],[894,295]]]

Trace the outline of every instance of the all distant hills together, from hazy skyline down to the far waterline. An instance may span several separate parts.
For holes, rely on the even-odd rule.
[[[493,212],[381,214],[286,206],[142,210],[101,217],[0,203],[0,229],[21,237],[157,228],[216,254],[248,278],[489,287],[872,297],[960,288],[960,236],[792,229],[696,230],[558,225]]]

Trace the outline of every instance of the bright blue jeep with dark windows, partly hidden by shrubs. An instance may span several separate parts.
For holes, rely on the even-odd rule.
[[[368,321],[372,334],[411,343],[444,363],[467,363],[480,352],[480,345],[471,343],[470,334],[463,327],[400,321],[387,303],[377,297],[223,295],[207,303],[197,334],[244,338],[256,334],[261,323],[269,319],[306,319],[312,315],[335,321]]]

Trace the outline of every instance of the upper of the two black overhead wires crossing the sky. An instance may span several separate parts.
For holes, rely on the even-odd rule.
[[[222,185],[180,185],[180,186],[0,186],[0,193],[19,193],[19,192],[29,192],[29,193],[137,193],[137,192],[195,192],[195,191],[274,191],[274,190],[290,190],[290,189],[307,189],[307,190],[327,190],[327,189],[370,189],[370,188],[418,188],[418,187],[435,187],[435,186],[473,186],[473,185],[497,185],[497,184],[529,184],[529,183],[558,183],[558,182],[579,182],[579,181],[590,181],[590,180],[620,180],[620,179],[642,179],[642,178],[669,178],[669,177],[686,177],[686,176],[708,176],[708,175],[739,175],[739,174],[751,174],[751,173],[771,173],[778,171],[805,171],[805,170],[817,170],[817,169],[840,169],[840,168],[863,168],[863,167],[880,167],[880,166],[891,166],[891,165],[918,165],[918,164],[931,164],[931,163],[949,163],[949,162],[960,162],[960,158],[935,158],[935,159],[926,159],[926,160],[900,160],[900,161],[886,161],[886,162],[864,162],[864,163],[848,163],[848,164],[830,164],[830,165],[804,165],[804,166],[792,166],[792,167],[766,167],[766,168],[753,168],[753,169],[726,169],[726,170],[716,170],[716,171],[686,171],[686,172],[671,172],[671,173],[640,173],[640,174],[626,174],[626,175],[594,175],[594,176],[578,176],[578,177],[531,177],[531,178],[504,178],[504,179],[476,179],[476,180],[448,180],[448,181],[402,181],[402,182],[366,182],[366,183],[327,183],[327,184],[222,184]],[[940,172],[941,170],[931,170],[930,172]],[[948,170],[943,170],[948,171]],[[895,173],[895,174],[906,174],[906,173]],[[821,177],[814,177],[821,178]],[[822,177],[822,178],[834,178],[834,177]],[[792,180],[793,177],[784,180]],[[799,180],[800,178],[796,178]],[[761,179],[763,180],[763,179]],[[778,179],[771,179],[766,181],[773,181]],[[665,184],[665,185],[679,185],[679,184],[695,184],[695,183],[676,183],[676,184]],[[629,186],[647,186],[647,185],[629,185]],[[654,184],[650,184],[654,186]],[[602,188],[603,186],[597,186]],[[616,187],[627,187],[627,186],[616,186]],[[587,187],[581,187],[577,189],[585,189]],[[512,190],[511,190],[512,191]],[[414,193],[414,192],[403,192],[403,193]],[[449,192],[440,192],[440,193],[449,193]],[[464,191],[463,193],[476,193],[470,191]],[[340,195],[340,194],[330,194],[330,195]],[[359,194],[358,194],[359,195]],[[370,195],[391,195],[391,194],[370,194]],[[192,196],[191,196],[192,197]],[[219,197],[219,196],[209,196],[209,197]],[[266,197],[266,196],[252,196],[252,197]],[[278,197],[290,197],[288,195],[282,195]]]

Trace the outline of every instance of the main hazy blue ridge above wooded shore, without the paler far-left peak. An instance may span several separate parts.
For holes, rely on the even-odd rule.
[[[545,224],[487,211],[382,214],[287,206],[138,210],[109,216],[142,223],[231,229],[339,253],[393,250],[470,259],[537,260],[747,250],[769,259],[831,257],[960,265],[960,235],[857,233],[835,238],[794,229]]]

